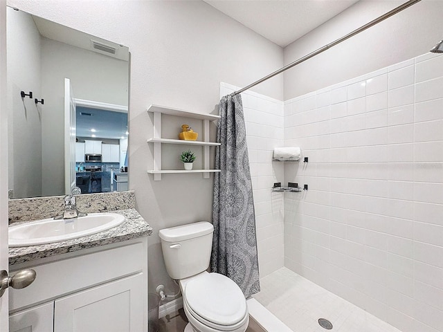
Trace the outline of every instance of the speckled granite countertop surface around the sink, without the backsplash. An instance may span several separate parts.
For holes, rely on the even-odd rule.
[[[55,243],[41,244],[37,246],[9,248],[9,265],[21,264],[26,261],[42,259],[55,255],[62,255],[66,252],[105,246],[111,243],[118,243],[138,237],[146,237],[152,234],[152,228],[134,208],[126,210],[108,211],[123,214],[126,221],[121,225],[92,234],[87,237],[79,237]],[[20,222],[20,223],[25,223]],[[15,223],[17,225],[18,223]]]

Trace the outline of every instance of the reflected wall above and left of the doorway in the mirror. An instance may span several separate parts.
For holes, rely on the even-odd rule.
[[[129,64],[42,38],[42,196],[64,194],[64,77],[74,98],[128,104]]]

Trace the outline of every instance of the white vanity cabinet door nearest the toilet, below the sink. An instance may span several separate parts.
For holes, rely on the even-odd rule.
[[[138,273],[57,299],[54,332],[143,331],[144,279]]]

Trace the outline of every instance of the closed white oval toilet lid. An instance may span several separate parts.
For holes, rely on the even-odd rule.
[[[247,313],[246,299],[233,280],[219,273],[206,273],[186,284],[188,306],[209,322],[233,325]]]

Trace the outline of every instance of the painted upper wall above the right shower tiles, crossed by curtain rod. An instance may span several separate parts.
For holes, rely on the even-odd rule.
[[[289,64],[405,1],[357,2],[284,48]],[[443,1],[422,0],[284,73],[284,100],[417,57],[442,39]]]

